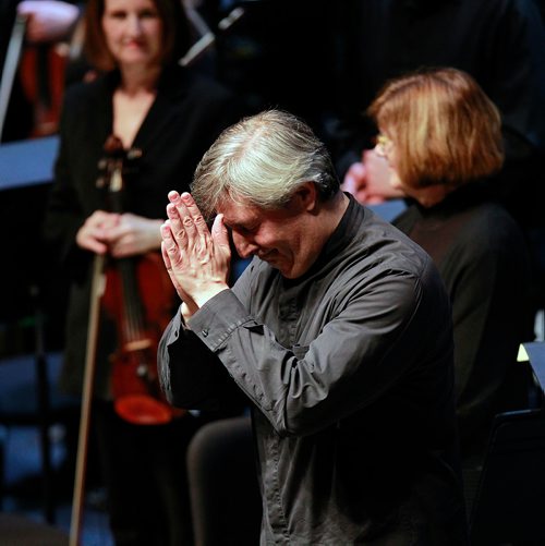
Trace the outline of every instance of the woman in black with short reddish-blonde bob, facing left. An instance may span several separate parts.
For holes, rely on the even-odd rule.
[[[504,161],[500,116],[455,69],[392,80],[370,113],[390,183],[413,199],[393,223],[432,256],[450,294],[461,450],[479,464],[529,312],[524,239],[492,197]]]

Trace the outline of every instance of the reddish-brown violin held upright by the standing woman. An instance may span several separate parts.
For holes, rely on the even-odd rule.
[[[122,214],[123,165],[141,155],[123,149],[111,135],[100,167],[112,213]],[[111,390],[118,415],[135,425],[159,425],[181,415],[164,399],[157,374],[157,347],[172,317],[175,291],[158,252],[108,258],[102,312],[118,329],[118,349],[110,356]]]

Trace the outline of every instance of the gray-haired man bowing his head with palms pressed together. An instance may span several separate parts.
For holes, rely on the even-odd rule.
[[[161,385],[186,409],[247,398],[261,543],[467,544],[450,306],[429,257],[339,190],[286,112],[229,128],[192,194],[169,199],[162,255],[182,304]],[[232,289],[229,231],[253,256]]]

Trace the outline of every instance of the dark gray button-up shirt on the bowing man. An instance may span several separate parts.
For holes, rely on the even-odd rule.
[[[351,199],[303,277],[254,258],[189,328],[164,335],[164,389],[247,397],[262,544],[467,544],[448,296],[396,228]]]

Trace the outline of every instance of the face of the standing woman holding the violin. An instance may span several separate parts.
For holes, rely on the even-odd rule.
[[[160,62],[162,21],[152,0],[105,0],[102,31],[120,68]]]

